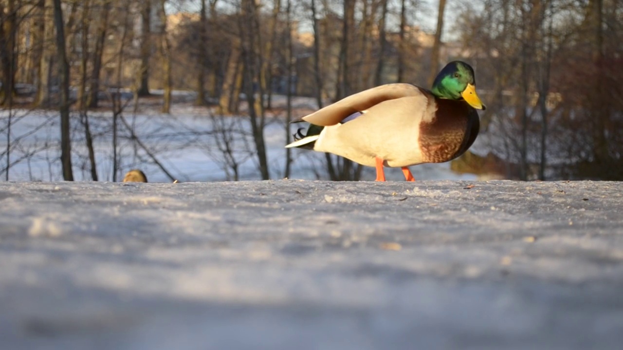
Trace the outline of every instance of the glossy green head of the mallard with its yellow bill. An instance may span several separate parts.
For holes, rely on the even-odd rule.
[[[485,110],[485,105],[476,95],[476,78],[472,66],[461,61],[450,62],[437,74],[431,92],[439,98],[465,100],[478,110]]]

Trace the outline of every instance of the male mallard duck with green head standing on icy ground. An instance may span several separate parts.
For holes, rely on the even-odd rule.
[[[480,123],[474,108],[485,109],[476,95],[472,67],[454,61],[439,72],[432,90],[406,83],[381,85],[356,93],[303,116],[301,129],[286,147],[308,148],[376,166],[376,181],[385,181],[383,166],[443,163],[467,151]]]

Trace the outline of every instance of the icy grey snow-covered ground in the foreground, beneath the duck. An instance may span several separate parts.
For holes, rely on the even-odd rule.
[[[0,183],[2,349],[620,349],[623,183]]]

